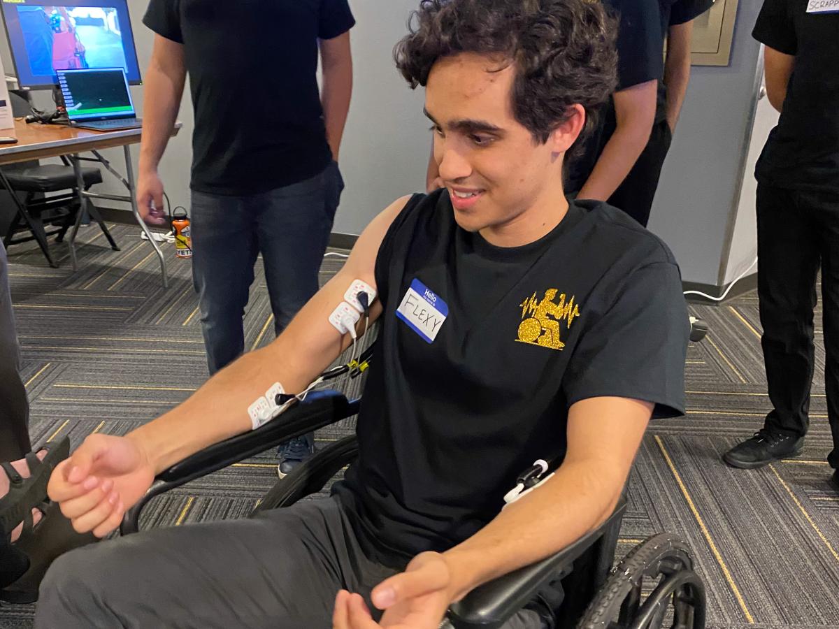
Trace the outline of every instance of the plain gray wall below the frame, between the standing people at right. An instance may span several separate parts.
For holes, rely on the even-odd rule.
[[[756,97],[760,46],[751,33],[760,5],[739,2],[731,65],[693,68],[664,163],[649,228],[670,245],[686,281],[718,286],[727,265]]]

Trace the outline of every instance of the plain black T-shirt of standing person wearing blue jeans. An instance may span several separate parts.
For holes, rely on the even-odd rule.
[[[326,168],[318,39],[352,28],[347,0],[151,0],[143,22],[184,44],[194,190],[257,194]]]

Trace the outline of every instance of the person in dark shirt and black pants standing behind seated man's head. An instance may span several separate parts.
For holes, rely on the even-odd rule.
[[[618,91],[586,154],[571,165],[568,189],[647,226],[690,78],[692,23],[713,0],[604,1],[620,16]]]

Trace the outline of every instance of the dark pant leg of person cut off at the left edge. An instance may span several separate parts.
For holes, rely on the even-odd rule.
[[[29,450],[29,401],[20,381],[20,352],[8,289],[6,250],[0,243],[0,461],[18,460]]]

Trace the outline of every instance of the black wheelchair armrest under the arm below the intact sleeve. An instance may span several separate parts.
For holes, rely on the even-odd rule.
[[[451,625],[455,629],[497,629],[503,626],[533,600],[541,588],[571,572],[574,562],[594,543],[617,531],[625,510],[626,500],[622,497],[606,522],[559,553],[472,590],[449,608],[447,618]]]

